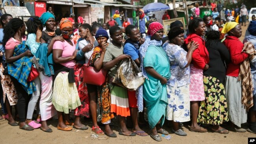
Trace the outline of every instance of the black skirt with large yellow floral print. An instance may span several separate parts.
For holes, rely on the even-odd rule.
[[[228,121],[228,108],[224,85],[219,79],[204,76],[205,100],[201,101],[197,122],[220,125]]]

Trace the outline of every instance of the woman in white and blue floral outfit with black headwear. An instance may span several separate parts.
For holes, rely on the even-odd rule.
[[[188,52],[180,47],[184,44],[184,30],[178,26],[171,28],[168,38],[169,41],[163,44],[163,49],[170,61],[172,76],[167,82],[168,106],[166,108],[166,119],[173,122],[171,130],[173,133],[186,136],[187,134],[180,129],[179,122],[190,121],[189,64],[194,50],[198,48],[198,44],[197,42],[188,44]]]

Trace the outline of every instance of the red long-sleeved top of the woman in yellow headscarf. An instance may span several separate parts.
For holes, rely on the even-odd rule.
[[[223,41],[230,53],[231,62],[227,65],[226,76],[238,76],[240,63],[249,56],[243,50],[243,43],[234,36],[226,36]]]

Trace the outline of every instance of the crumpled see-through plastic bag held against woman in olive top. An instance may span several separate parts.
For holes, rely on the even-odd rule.
[[[122,61],[112,83],[133,91],[143,85],[144,81],[141,69],[130,58]]]

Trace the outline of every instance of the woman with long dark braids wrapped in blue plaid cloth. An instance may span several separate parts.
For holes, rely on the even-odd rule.
[[[36,91],[35,83],[28,82],[32,66],[32,54],[25,45],[26,26],[20,18],[13,18],[4,29],[3,46],[6,48],[6,63],[8,74],[18,92],[18,114],[20,118],[19,127],[27,131],[34,128],[25,122],[26,104],[29,101],[29,94]]]

